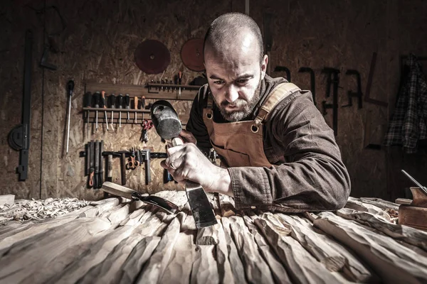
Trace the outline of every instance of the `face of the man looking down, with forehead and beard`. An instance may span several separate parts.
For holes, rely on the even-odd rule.
[[[255,45],[255,46],[254,46]],[[240,121],[251,114],[260,99],[260,82],[265,76],[268,58],[262,62],[254,40],[243,38],[236,46],[221,52],[206,46],[206,75],[216,105],[224,119]]]

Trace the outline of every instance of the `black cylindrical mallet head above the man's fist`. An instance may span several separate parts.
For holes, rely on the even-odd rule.
[[[150,115],[157,134],[164,140],[179,136],[182,129],[181,121],[172,104],[164,100],[154,102]]]

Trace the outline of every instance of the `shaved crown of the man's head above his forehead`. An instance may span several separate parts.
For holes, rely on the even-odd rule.
[[[253,18],[243,13],[226,13],[216,18],[204,38],[206,50],[216,55],[230,55],[238,50],[257,49],[259,61],[263,60],[263,36]]]

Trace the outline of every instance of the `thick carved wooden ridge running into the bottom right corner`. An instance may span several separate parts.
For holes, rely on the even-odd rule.
[[[427,258],[389,236],[375,234],[331,212],[319,214],[314,225],[352,249],[386,283],[426,283]],[[392,271],[392,273],[391,273]]]

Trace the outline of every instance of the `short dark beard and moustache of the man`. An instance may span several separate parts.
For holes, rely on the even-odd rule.
[[[230,103],[225,100],[221,102],[221,104],[218,104],[215,98],[214,100],[215,100],[216,106],[218,107],[224,119],[228,121],[233,121],[233,122],[241,121],[242,119],[249,116],[249,114],[251,114],[253,109],[255,108],[256,104],[258,104],[258,101],[260,100],[260,89],[261,89],[261,78],[260,78],[260,81],[258,82],[258,87],[256,87],[255,93],[253,94],[253,97],[250,101],[246,101],[244,99],[236,99],[236,101],[234,101],[233,103]],[[227,111],[226,107],[228,105],[235,106],[239,110]],[[243,109],[241,109],[241,107],[243,107]]]

